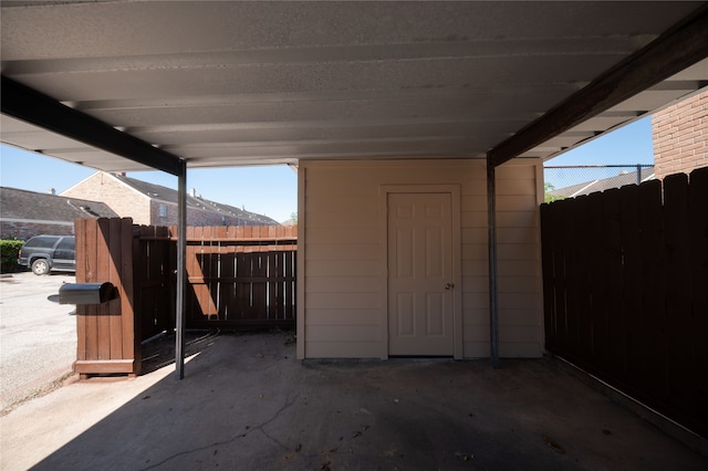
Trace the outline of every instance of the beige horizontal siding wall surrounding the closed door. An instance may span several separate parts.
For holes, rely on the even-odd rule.
[[[497,170],[500,350],[506,357],[542,353],[541,165],[521,160]],[[462,355],[489,356],[483,160],[308,161],[301,163],[300,171],[301,357],[386,356],[385,220],[379,196],[386,185],[459,186]]]

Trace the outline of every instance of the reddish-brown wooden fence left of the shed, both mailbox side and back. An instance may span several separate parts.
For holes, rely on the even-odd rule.
[[[77,219],[76,281],[118,297],[77,306],[74,369],[137,375],[140,342],[175,327],[176,228]],[[298,228],[187,228],[187,328],[292,327]]]

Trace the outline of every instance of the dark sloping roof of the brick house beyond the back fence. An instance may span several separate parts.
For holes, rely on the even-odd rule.
[[[160,185],[149,184],[147,181],[137,180],[135,178],[126,177],[122,174],[111,174],[117,180],[124,185],[133,188],[134,190],[145,195],[146,197],[177,205],[178,192],[171,188],[163,187]],[[216,201],[204,199],[196,195],[187,195],[187,209],[202,209],[207,211],[217,212],[219,214],[229,214],[235,218],[244,219],[248,221],[258,222],[259,224],[278,226],[279,222],[267,216],[250,212],[244,209],[239,209],[233,206],[223,205]]]

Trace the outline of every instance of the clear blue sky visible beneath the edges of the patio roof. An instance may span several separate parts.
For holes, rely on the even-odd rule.
[[[545,165],[654,164],[652,119],[645,117],[570,150]],[[94,169],[0,145],[0,186],[56,193]],[[566,172],[568,174],[568,172]],[[581,175],[581,174],[577,174]],[[128,177],[177,189],[177,177],[163,171],[133,171]],[[550,179],[546,172],[546,179]],[[584,181],[583,177],[577,177]],[[590,178],[586,178],[590,179]],[[554,182],[556,188],[568,184]],[[225,205],[244,207],[279,222],[298,211],[298,175],[288,166],[189,169],[187,190]]]

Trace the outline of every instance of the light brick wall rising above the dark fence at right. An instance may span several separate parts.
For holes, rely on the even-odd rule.
[[[708,166],[708,92],[652,116],[656,178]]]

